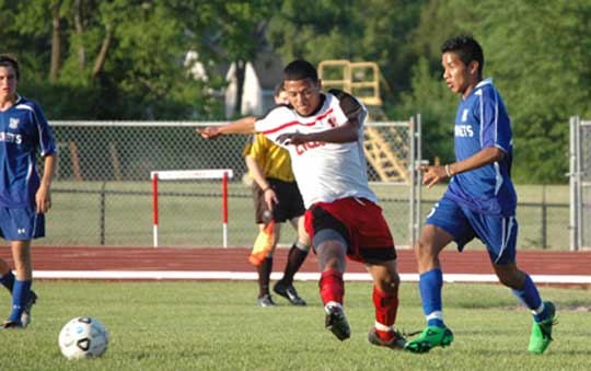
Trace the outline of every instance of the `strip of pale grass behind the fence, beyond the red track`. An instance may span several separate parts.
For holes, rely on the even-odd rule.
[[[105,184],[104,204],[101,202],[100,182],[56,182],[54,207],[47,216],[47,237],[38,244],[47,245],[152,245],[152,197],[150,182],[112,182]],[[399,246],[409,244],[409,188],[406,186],[372,185],[381,198],[384,216]],[[71,193],[76,190],[77,193]],[[160,196],[160,245],[221,246],[221,186],[218,183],[162,182]],[[422,188],[421,221],[444,186]],[[568,250],[569,193],[568,186],[518,186],[519,201],[540,204],[543,194],[554,206],[546,210],[545,234],[540,206],[518,207],[520,223],[519,248]],[[120,194],[127,193],[127,194]],[[135,194],[132,194],[135,193]],[[171,193],[185,196],[171,196]],[[194,196],[188,196],[194,194]],[[195,196],[198,194],[199,196]],[[250,188],[242,183],[229,187],[229,244],[248,246],[256,237],[253,200]],[[101,221],[101,205],[104,205]],[[101,228],[101,225],[104,225]],[[101,231],[103,230],[103,236]],[[293,230],[286,225],[280,243],[291,244]],[[471,248],[482,248],[479,242]]]

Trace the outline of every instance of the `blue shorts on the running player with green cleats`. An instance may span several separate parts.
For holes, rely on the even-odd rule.
[[[475,212],[443,197],[433,206],[425,223],[437,225],[453,235],[460,252],[465,244],[478,237],[486,245],[493,263],[506,265],[515,262],[515,217]]]

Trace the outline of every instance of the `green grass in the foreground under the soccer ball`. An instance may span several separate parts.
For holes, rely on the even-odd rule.
[[[531,316],[509,290],[494,285],[447,285],[450,348],[412,355],[372,346],[371,285],[346,286],[352,336],[340,343],[324,329],[316,282],[299,282],[306,308],[279,301],[255,306],[255,282],[40,281],[34,322],[0,333],[1,370],[589,370],[589,290],[541,288],[557,304],[555,341],[528,353]],[[278,300],[281,298],[278,298]],[[0,315],[9,295],[0,292]],[[79,315],[100,318],[111,344],[104,357],[68,361],[58,333]],[[397,324],[424,326],[416,285],[404,283]]]

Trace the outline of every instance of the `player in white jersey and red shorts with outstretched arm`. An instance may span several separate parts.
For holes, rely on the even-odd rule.
[[[304,204],[305,229],[317,254],[325,325],[338,339],[350,337],[344,312],[343,274],[347,257],[361,262],[373,278],[375,325],[369,340],[403,348],[394,329],[399,277],[390,229],[368,186],[363,154],[366,108],[341,91],[321,91],[316,69],[294,60],[283,69],[283,88],[290,105],[265,117],[242,119],[200,130],[204,138],[229,134],[263,132],[287,148]]]

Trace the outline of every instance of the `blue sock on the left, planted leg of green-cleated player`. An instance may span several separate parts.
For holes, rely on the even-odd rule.
[[[420,299],[422,301],[422,312],[427,317],[427,326],[445,326],[441,313],[442,287],[443,273],[439,268],[426,271],[419,277]]]

